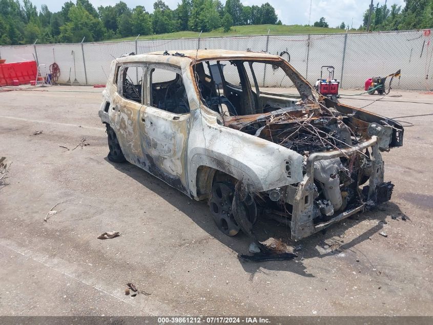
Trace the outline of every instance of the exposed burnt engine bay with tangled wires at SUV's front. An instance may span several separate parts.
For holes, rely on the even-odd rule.
[[[365,114],[361,110],[347,114],[342,105],[326,101],[300,100],[269,113],[223,118],[225,126],[298,152],[304,157],[304,179],[310,173],[314,175],[307,191],[310,194],[301,202],[296,201],[299,184],[272,190],[268,197],[262,197],[260,204],[273,219],[287,222],[297,213],[305,215],[305,207],[310,205],[306,219],[313,220],[312,225],[317,227],[347,211],[359,212],[359,207],[390,199],[394,185],[383,182],[380,150],[401,145],[402,127],[387,119],[366,122],[361,119]],[[372,136],[375,144],[365,146]],[[334,154],[326,157],[327,152]],[[309,163],[315,153],[325,156]],[[288,162],[288,175],[292,168],[296,166]],[[377,186],[374,191],[370,190],[372,183]],[[304,209],[299,211],[299,206]]]

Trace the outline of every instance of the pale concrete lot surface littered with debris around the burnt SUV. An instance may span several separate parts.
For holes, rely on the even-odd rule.
[[[416,116],[397,119],[413,126],[383,153],[390,202],[302,240],[294,260],[254,263],[237,258],[246,236],[221,234],[206,204],[107,160],[101,89],[40,90],[0,93],[0,156],[12,162],[0,185],[0,315],[433,314],[431,94],[393,91],[366,107]],[[285,226],[258,226],[298,245]],[[106,231],[121,236],[96,238]],[[128,282],[151,295],[126,296]]]

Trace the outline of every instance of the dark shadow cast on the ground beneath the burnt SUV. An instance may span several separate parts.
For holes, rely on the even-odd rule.
[[[240,264],[244,271],[250,274],[251,280],[254,278],[256,273],[266,273],[266,270],[286,271],[304,277],[314,277],[314,274],[308,272],[307,267],[303,263],[304,260],[336,256],[339,254],[342,256],[341,254],[345,254],[347,251],[358,251],[359,254],[363,254],[357,250],[355,246],[363,241],[370,240],[370,237],[381,232],[383,224],[391,220],[391,215],[410,220],[409,217],[400,210],[397,204],[386,202],[374,211],[368,211],[363,214],[349,217],[337,224],[329,226],[325,231],[295,242],[290,239],[290,227],[288,225],[261,217],[254,225],[254,232],[259,241],[266,241],[266,243],[268,243],[269,241],[272,242],[273,239],[274,241],[280,240],[287,245],[288,252],[293,251],[298,255],[298,257],[288,261],[246,261],[240,258],[240,256],[243,254],[250,254],[248,251],[250,244],[248,236],[241,232],[234,237],[222,234],[215,225],[209,207],[205,202],[197,202],[188,198],[186,195],[180,193],[178,190],[172,188],[137,166],[130,163],[117,164],[110,162],[107,158],[105,159],[121,173],[128,175],[160,196],[162,199],[166,200],[168,204],[173,205],[180,212],[191,218],[192,221],[194,221],[209,235],[236,252]],[[365,219],[373,220],[377,223],[354,239],[348,240],[345,238],[344,234],[347,230]],[[326,245],[328,247],[326,247]],[[298,249],[296,250],[296,248]]]

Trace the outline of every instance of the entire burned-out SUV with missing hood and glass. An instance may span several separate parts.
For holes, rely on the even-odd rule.
[[[209,202],[227,235],[266,215],[299,240],[390,199],[380,152],[403,127],[323,97],[280,56],[126,55],[102,96],[108,158]]]

